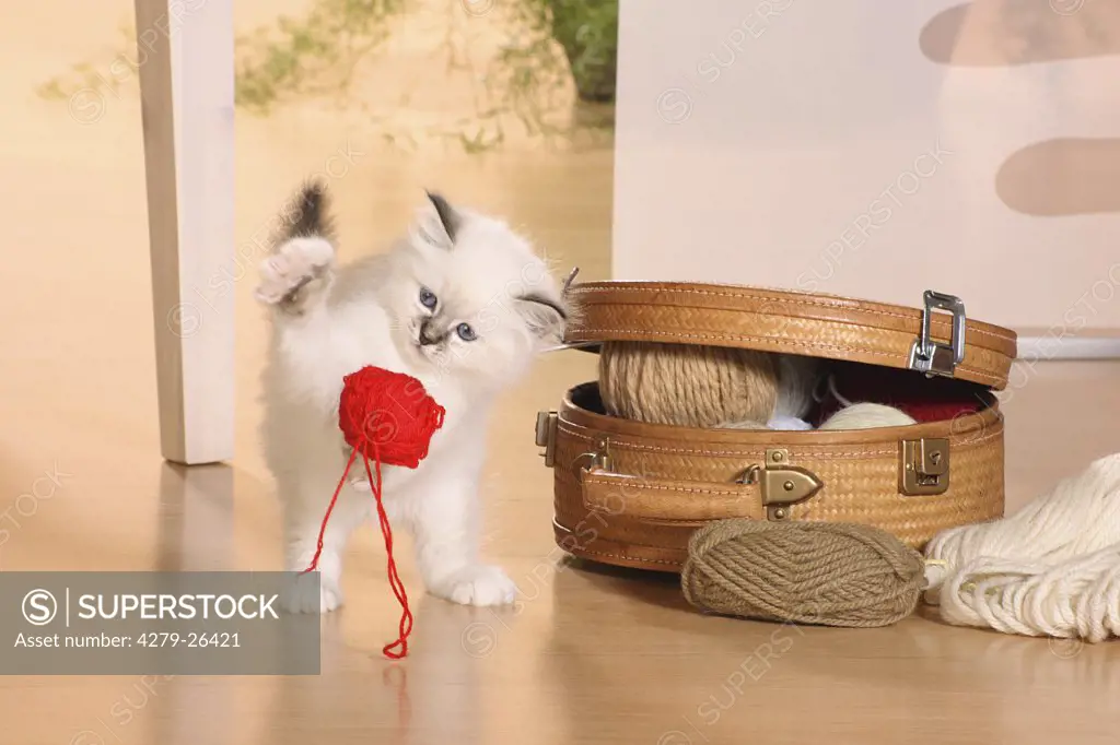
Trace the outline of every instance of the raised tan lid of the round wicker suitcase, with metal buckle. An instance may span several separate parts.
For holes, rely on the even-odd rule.
[[[573,273],[575,275],[575,273]],[[911,369],[1007,387],[1014,331],[968,319],[953,295],[926,291],[921,308],[838,295],[687,282],[569,284],[576,311],[564,347],[604,341],[740,347]]]

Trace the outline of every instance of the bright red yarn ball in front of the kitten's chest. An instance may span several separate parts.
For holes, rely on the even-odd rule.
[[[410,375],[364,367],[343,378],[338,426],[347,444],[368,459],[417,468],[445,414]]]

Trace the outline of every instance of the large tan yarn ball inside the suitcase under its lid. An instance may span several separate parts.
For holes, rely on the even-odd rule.
[[[604,407],[637,422],[688,427],[768,422],[777,387],[773,357],[750,349],[608,341],[599,350]]]

